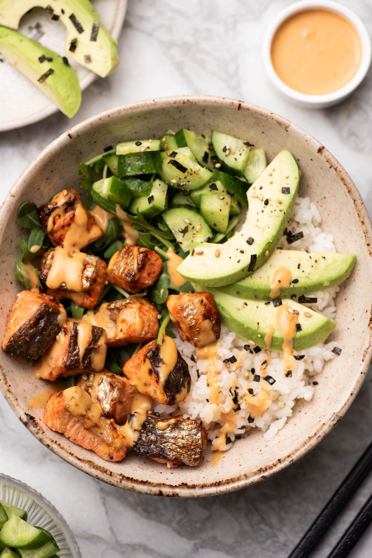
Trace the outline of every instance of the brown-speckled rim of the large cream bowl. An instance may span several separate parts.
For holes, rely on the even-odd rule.
[[[26,167],[26,169],[21,173],[18,179],[15,181],[11,189],[9,190],[6,198],[4,199],[0,207],[0,222],[2,221],[4,215],[6,215],[7,208],[9,204],[13,203],[13,198],[15,197],[15,192],[18,188],[22,187],[22,181],[35,167],[44,163],[48,160],[49,156],[57,149],[61,150],[65,145],[73,139],[74,137],[79,137],[81,133],[85,132],[91,126],[96,123],[108,119],[112,116],[118,116],[120,114],[125,114],[125,112],[141,111],[143,109],[151,108],[162,108],[167,105],[205,105],[205,106],[215,106],[216,104],[222,107],[230,107],[235,110],[247,111],[258,116],[262,116],[265,119],[272,120],[279,124],[279,126],[284,129],[291,128],[291,131],[296,134],[302,141],[306,141],[315,151],[324,158],[327,166],[331,166],[338,179],[346,187],[347,193],[350,195],[357,217],[359,219],[361,229],[364,234],[364,242],[368,246],[369,258],[372,261],[372,224],[365,208],[363,200],[361,199],[360,193],[357,190],[354,182],[352,182],[350,176],[345,171],[337,161],[337,159],[331,155],[331,153],[315,138],[313,138],[309,133],[304,131],[302,128],[293,124],[291,121],[279,116],[278,114],[259,107],[254,104],[245,103],[243,100],[219,97],[214,95],[174,95],[172,97],[161,97],[157,99],[147,99],[138,102],[128,103],[115,107],[112,109],[105,110],[102,113],[96,114],[85,121],[76,124],[73,128],[70,128],[66,132],[62,133],[61,136],[56,138],[49,146],[42,150]],[[258,469],[253,473],[241,474],[237,477],[226,479],[226,480],[216,480],[212,483],[204,484],[169,484],[169,483],[153,483],[147,481],[140,481],[134,479],[133,477],[127,477],[123,473],[116,473],[109,471],[104,465],[97,465],[93,463],[89,458],[79,458],[75,454],[71,454],[66,448],[60,445],[58,442],[51,440],[50,437],[43,430],[38,428],[38,425],[30,414],[25,411],[20,405],[16,393],[13,393],[6,377],[6,371],[3,365],[0,363],[0,389],[3,393],[4,398],[8,402],[9,406],[16,413],[21,422],[26,426],[28,430],[48,449],[53,451],[56,455],[74,465],[77,469],[80,469],[84,473],[90,474],[99,480],[103,480],[108,484],[113,484],[120,488],[125,488],[132,490],[133,492],[140,492],[143,494],[152,494],[155,496],[175,496],[175,497],[200,497],[200,496],[212,496],[214,494],[221,494],[225,492],[230,492],[232,490],[237,490],[240,488],[248,487],[249,485],[255,484],[264,480],[265,478],[271,477],[272,475],[281,472],[283,469],[287,468],[288,465],[297,461],[308,451],[313,449],[329,432],[336,426],[339,420],[344,416],[347,409],[350,407],[352,401],[356,397],[359,391],[366,373],[368,372],[369,365],[372,360],[372,308],[370,310],[370,321],[369,321],[369,338],[368,345],[364,349],[363,357],[361,359],[361,365],[359,373],[355,377],[354,383],[350,386],[349,395],[345,396],[344,400],[340,402],[339,408],[334,411],[330,419],[323,424],[319,425],[317,430],[307,439],[303,440],[302,444],[298,446],[297,449],[289,453],[285,458],[278,459],[274,463],[267,465],[264,469]]]

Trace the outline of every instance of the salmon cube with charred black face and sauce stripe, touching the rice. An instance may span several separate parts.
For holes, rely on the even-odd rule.
[[[124,362],[123,373],[140,393],[163,405],[183,401],[190,391],[189,367],[168,336],[162,345],[154,340],[142,347]]]

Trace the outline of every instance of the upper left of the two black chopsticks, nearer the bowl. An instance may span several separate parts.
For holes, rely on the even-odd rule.
[[[371,469],[372,442],[347,477],[342,481],[334,495],[328,500],[325,507],[323,507],[318,517],[308,528],[288,558],[306,558],[310,554]]]

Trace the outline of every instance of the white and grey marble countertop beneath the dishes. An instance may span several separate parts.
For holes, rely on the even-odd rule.
[[[216,94],[274,110],[336,156],[372,214],[372,71],[337,107],[305,110],[278,97],[260,55],[283,0],[129,0],[119,41],[120,68],[83,94],[79,113],[0,134],[0,199],[25,166],[71,125],[114,106],[173,94]],[[370,0],[341,2],[372,33]],[[0,396],[0,471],[39,490],[65,517],[84,558],[285,558],[371,441],[372,376],[340,424],[310,454],[276,477],[239,492],[172,499],[125,492],[52,454]],[[17,444],[15,444],[17,440]],[[327,556],[372,492],[365,480],[312,556]],[[352,552],[371,556],[372,528]]]

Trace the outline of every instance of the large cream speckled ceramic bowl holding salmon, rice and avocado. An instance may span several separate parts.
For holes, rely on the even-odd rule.
[[[217,128],[263,147],[271,160],[282,149],[296,157],[302,171],[300,195],[321,211],[322,227],[334,236],[339,252],[357,255],[357,264],[337,296],[337,328],[330,339],[342,348],[326,363],[311,402],[299,401],[278,435],[266,442],[253,430],[212,466],[210,444],[199,467],[167,469],[128,453],[110,463],[47,429],[42,411],[27,410],[40,393],[21,358],[0,354],[0,387],[28,430],[47,448],[75,467],[118,487],[165,496],[207,496],[246,487],[278,473],[305,455],[337,424],[359,390],[371,360],[371,223],[363,201],[340,163],[301,128],[264,108],[223,97],[150,99],[107,110],[78,124],[40,153],[13,185],[0,209],[0,335],[20,285],[14,278],[20,256],[16,224],[18,206],[26,200],[44,203],[65,187],[78,187],[80,161],[109,145],[133,137],[160,137],[167,129],[189,126],[200,133]]]

